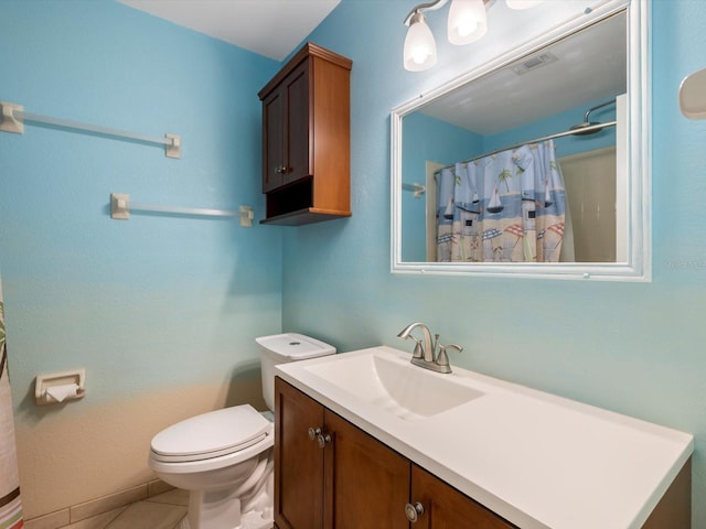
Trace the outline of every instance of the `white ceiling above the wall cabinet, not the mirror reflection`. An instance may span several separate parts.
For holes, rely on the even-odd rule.
[[[341,0],[118,0],[140,11],[282,61]]]

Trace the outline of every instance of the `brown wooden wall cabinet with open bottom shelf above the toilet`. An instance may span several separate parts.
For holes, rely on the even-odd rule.
[[[258,93],[261,223],[298,226],[351,216],[352,64],[308,43]]]

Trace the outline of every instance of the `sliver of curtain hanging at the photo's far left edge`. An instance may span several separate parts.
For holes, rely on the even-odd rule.
[[[0,529],[20,529],[24,527],[24,522],[4,337],[4,305],[0,282]]]

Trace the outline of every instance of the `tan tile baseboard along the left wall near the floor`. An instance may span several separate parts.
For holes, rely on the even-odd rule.
[[[25,521],[26,529],[60,529],[69,523],[75,523],[103,512],[107,512],[119,507],[124,507],[141,499],[150,498],[159,494],[173,489],[171,485],[161,479],[153,479],[136,487],[109,494],[100,498],[73,505],[65,509],[38,516]]]

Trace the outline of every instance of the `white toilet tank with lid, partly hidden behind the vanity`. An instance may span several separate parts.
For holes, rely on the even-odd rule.
[[[263,397],[267,408],[275,411],[275,366],[333,355],[335,347],[303,334],[288,333],[255,338],[260,349]]]

